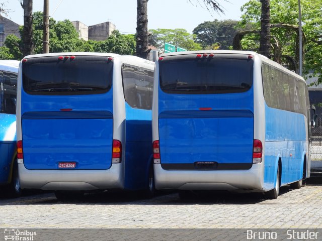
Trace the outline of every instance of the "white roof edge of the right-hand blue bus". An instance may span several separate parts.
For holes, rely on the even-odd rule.
[[[249,55],[254,55],[254,56],[258,56],[263,62],[266,62],[276,68],[281,69],[282,71],[293,75],[294,77],[301,79],[303,82],[305,82],[305,80],[298,74],[292,72],[291,70],[285,68],[283,65],[276,63],[275,61],[267,58],[264,55],[258,54],[254,51],[241,51],[241,50],[198,50],[198,51],[184,51],[184,52],[174,52],[174,53],[167,53],[167,54],[162,54],[159,57],[166,57],[166,56],[175,56],[175,55],[185,55],[185,54],[210,54],[210,53],[214,53],[214,54],[249,54]],[[306,82],[305,82],[306,83]]]

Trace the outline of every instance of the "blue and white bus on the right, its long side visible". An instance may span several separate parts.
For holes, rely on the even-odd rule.
[[[156,189],[264,192],[310,176],[305,81],[255,52],[161,55],[154,73]]]

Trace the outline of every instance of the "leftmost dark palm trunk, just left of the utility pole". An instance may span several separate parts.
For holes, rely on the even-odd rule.
[[[24,9],[24,28],[23,28],[23,56],[33,54],[34,43],[32,38],[32,0],[20,0],[21,7]]]

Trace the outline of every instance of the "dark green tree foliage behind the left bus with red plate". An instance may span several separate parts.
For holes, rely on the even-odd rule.
[[[134,35],[122,35],[118,31],[113,31],[105,41],[85,41],[78,39],[78,33],[69,20],[58,21],[49,20],[49,50],[51,53],[58,52],[106,52],[122,55],[133,55],[135,53]],[[43,36],[43,14],[35,12],[33,14],[33,40],[34,53],[42,53]],[[23,34],[23,28],[20,28]],[[22,54],[23,42],[15,35],[6,38],[5,46],[0,48],[0,59],[17,59],[24,56]],[[9,51],[9,52],[8,52]]]

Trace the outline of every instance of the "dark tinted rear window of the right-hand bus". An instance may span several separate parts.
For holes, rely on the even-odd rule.
[[[160,88],[166,93],[219,94],[249,90],[253,60],[248,58],[187,58],[159,61]]]

